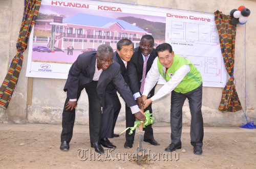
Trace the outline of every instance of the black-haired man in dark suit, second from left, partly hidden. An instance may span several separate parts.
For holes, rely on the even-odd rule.
[[[132,41],[129,39],[121,39],[117,42],[117,50],[114,52],[113,60],[120,65],[121,75],[126,83],[129,83],[126,76],[126,65],[133,56],[133,49],[134,45]],[[111,82],[105,91],[105,107],[102,108],[103,113],[100,134],[100,144],[106,148],[116,148],[108,138],[119,136],[114,134],[114,128],[120,109],[121,103],[117,95],[117,90],[114,83]]]

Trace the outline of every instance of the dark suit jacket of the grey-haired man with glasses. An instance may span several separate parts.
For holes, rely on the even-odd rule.
[[[77,98],[78,86],[92,82],[95,73],[96,52],[84,52],[80,54],[69,70],[68,79],[64,87],[64,91],[68,91],[69,99]],[[121,73],[120,65],[116,62],[108,69],[103,70],[100,74],[97,84],[97,94],[100,98],[102,106],[104,106],[104,94],[106,87],[113,81],[117,91],[123,96],[123,100],[127,105],[134,106],[136,102],[129,86],[125,83]]]

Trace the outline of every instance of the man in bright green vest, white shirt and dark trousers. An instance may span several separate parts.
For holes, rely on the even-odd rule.
[[[165,151],[172,152],[181,149],[182,106],[186,98],[191,114],[190,138],[194,154],[202,154],[203,146],[203,116],[202,116],[202,76],[188,59],[174,54],[172,46],[163,43],[157,46],[158,57],[154,60],[145,79],[142,94],[144,108],[153,101],[172,93],[170,106],[171,144]],[[150,99],[148,93],[156,85],[159,76],[166,81],[165,85]]]

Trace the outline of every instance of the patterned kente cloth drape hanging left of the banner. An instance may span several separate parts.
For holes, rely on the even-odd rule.
[[[22,69],[23,52],[26,50],[29,35],[34,25],[41,0],[24,0],[24,13],[17,40],[17,54],[12,59],[11,66],[0,88],[0,107],[7,109],[12,94],[18,82],[18,76]]]

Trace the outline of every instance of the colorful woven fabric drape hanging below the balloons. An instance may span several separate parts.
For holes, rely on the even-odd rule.
[[[222,57],[230,76],[222,92],[219,110],[236,112],[242,108],[236,87],[234,86],[234,41],[236,40],[236,25],[231,24],[231,16],[220,11],[215,13],[215,22],[220,37]]]

